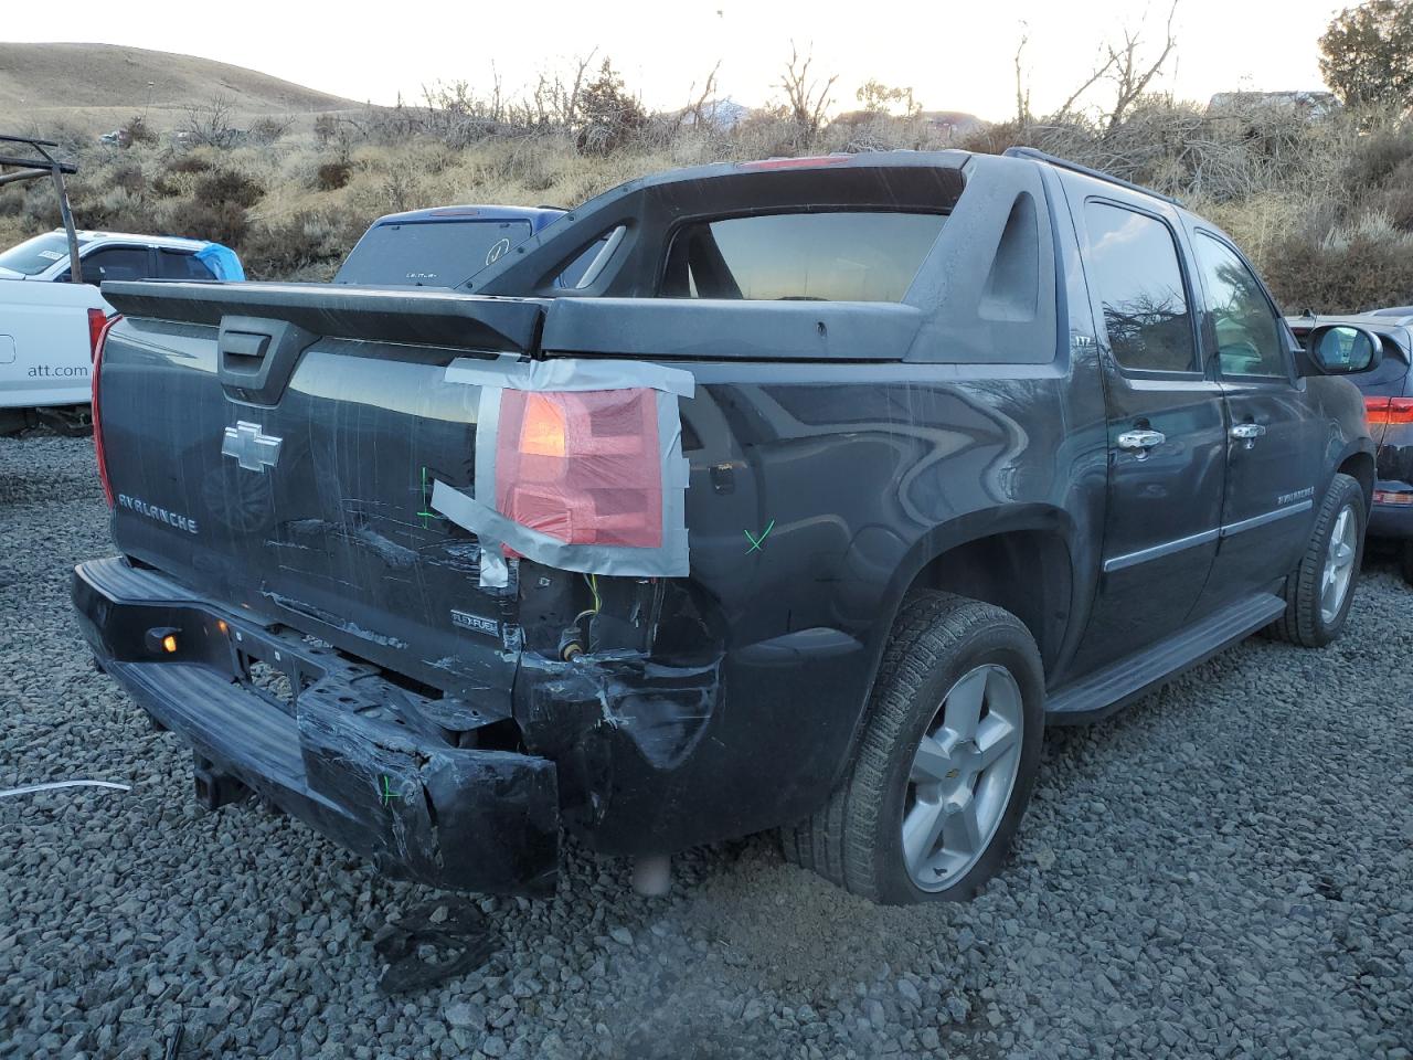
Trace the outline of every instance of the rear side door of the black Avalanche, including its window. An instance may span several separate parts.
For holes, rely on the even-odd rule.
[[[1174,212],[1106,194],[1081,218],[1109,432],[1099,592],[1075,661],[1091,669],[1193,612],[1217,553],[1226,424],[1198,359]]]

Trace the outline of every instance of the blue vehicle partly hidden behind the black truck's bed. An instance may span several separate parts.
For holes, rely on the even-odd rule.
[[[374,220],[333,277],[336,284],[456,287],[545,225],[551,206],[435,206]]]

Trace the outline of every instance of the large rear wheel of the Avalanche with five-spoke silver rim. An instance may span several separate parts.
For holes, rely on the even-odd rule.
[[[1009,612],[910,595],[848,775],[786,856],[887,905],[959,902],[1006,859],[1040,765],[1044,671]]]

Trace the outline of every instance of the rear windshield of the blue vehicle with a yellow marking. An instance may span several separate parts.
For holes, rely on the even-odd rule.
[[[528,220],[376,225],[353,247],[333,283],[455,287],[528,237]]]

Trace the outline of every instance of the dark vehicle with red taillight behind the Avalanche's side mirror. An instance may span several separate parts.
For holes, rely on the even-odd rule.
[[[1378,445],[1378,481],[1369,512],[1369,534],[1399,543],[1403,579],[1413,585],[1413,305],[1373,310],[1354,317],[1290,317],[1296,338],[1317,328],[1354,324],[1373,332],[1383,362],[1373,372],[1352,376],[1364,393],[1369,432]]]

